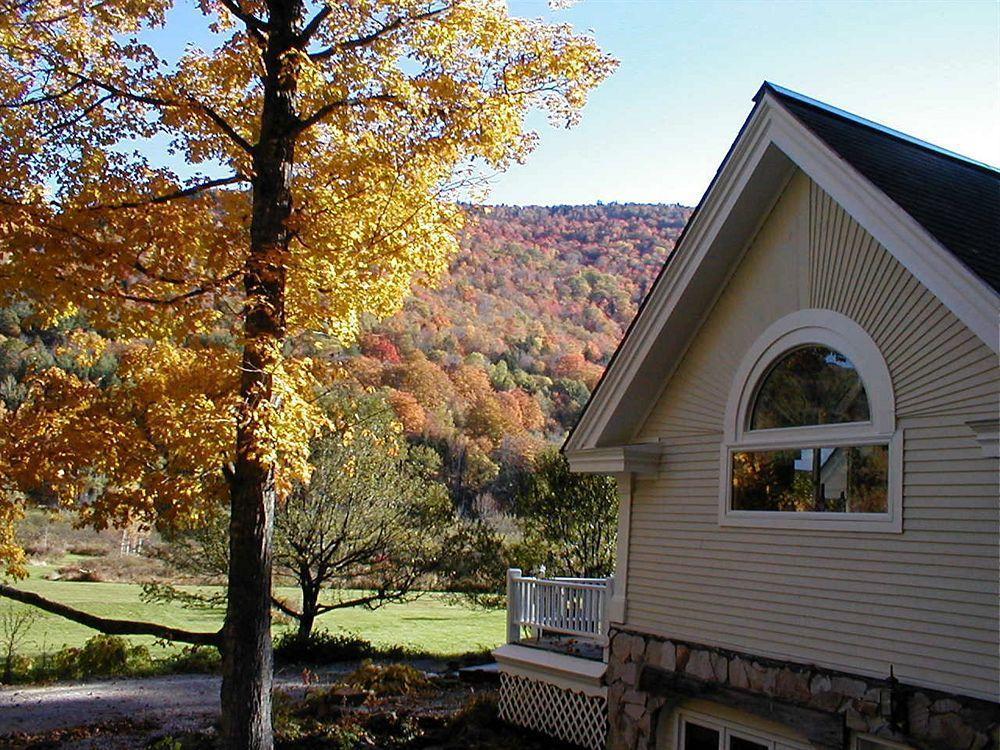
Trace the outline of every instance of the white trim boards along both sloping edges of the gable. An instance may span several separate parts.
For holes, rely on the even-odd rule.
[[[607,434],[612,419],[621,419],[620,413],[625,408],[630,409],[628,419],[636,422],[628,431],[634,435],[640,426],[639,420],[645,417],[651,404],[633,402],[626,405],[623,403],[626,389],[641,373],[654,344],[668,325],[676,339],[684,340],[683,346],[675,349],[671,356],[676,360],[683,355],[704,310],[693,312],[685,309],[682,303],[690,307],[687,297],[691,295],[686,292],[692,282],[699,274],[706,273],[711,261],[716,264],[722,261],[725,248],[715,246],[727,227],[727,220],[738,202],[749,195],[746,191],[752,180],[757,181],[755,190],[761,189],[761,185],[780,190],[787,180],[787,170],[782,173],[775,162],[775,150],[843,206],[990,349],[1000,353],[1000,296],[906,211],[795,119],[772,93],[765,92],[567,439],[568,455],[627,443],[628,438],[620,428],[610,436]],[[760,199],[761,213],[773,203],[770,198]],[[756,224],[744,221],[743,225]],[[746,232],[749,236],[750,230]],[[712,252],[713,249],[717,252]],[[729,260],[738,259],[739,254],[731,248],[728,252]],[[717,267],[710,270],[719,273]],[[714,295],[709,297],[703,291],[692,294],[696,297],[695,303],[700,300],[703,306],[714,299]],[[669,368],[661,372],[661,383],[668,371]]]

